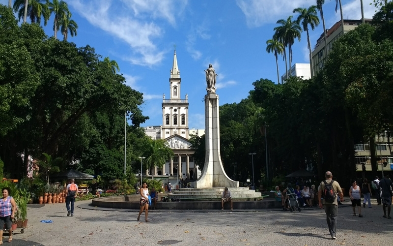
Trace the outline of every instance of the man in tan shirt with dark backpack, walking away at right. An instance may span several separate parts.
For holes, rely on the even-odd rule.
[[[344,195],[342,194],[342,190],[338,182],[332,180],[332,172],[327,171],[325,173],[325,178],[326,180],[322,181],[318,187],[319,208],[325,209],[326,221],[328,223],[330,235],[332,236],[332,239],[337,239],[337,193],[340,196],[341,202],[344,201]]]

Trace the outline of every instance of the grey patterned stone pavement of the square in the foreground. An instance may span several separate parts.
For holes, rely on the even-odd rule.
[[[88,206],[88,201],[76,202]],[[346,206],[345,206],[346,205]],[[16,231],[12,244],[4,233],[4,245],[172,245],[172,246],[381,246],[393,245],[393,219],[382,218],[381,206],[362,208],[363,218],[352,216],[349,202],[338,210],[337,240],[332,240],[323,210],[149,211],[150,222],[137,221],[136,211],[75,208],[67,217],[64,204],[28,208],[28,228]],[[234,205],[234,208],[236,206]],[[53,223],[42,223],[50,219]],[[143,222],[142,222],[143,221]]]

